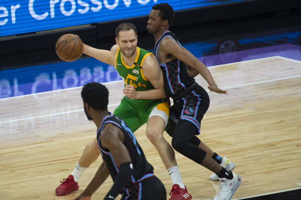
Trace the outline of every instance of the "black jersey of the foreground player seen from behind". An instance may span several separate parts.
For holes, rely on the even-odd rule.
[[[131,185],[140,182],[141,180],[147,177],[153,176],[154,168],[150,165],[150,163],[147,162],[145,155],[140,145],[136,141],[133,132],[129,129],[129,127],[125,124],[125,122],[122,119],[119,119],[117,116],[111,114],[103,118],[101,126],[97,131],[97,141],[101,156],[103,157],[103,160],[107,163],[113,181],[115,181],[117,173],[119,172],[119,166],[114,161],[114,158],[110,151],[101,147],[99,139],[99,135],[106,123],[112,123],[122,130],[124,134],[123,144],[128,149],[129,155],[131,156],[131,160],[134,166],[135,172],[131,176],[131,180],[129,180],[125,187],[128,188]]]

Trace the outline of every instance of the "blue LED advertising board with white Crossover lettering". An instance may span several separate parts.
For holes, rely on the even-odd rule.
[[[1,0],[0,37],[148,15],[156,3],[175,11],[243,0]],[[245,0],[246,1],[246,0]]]

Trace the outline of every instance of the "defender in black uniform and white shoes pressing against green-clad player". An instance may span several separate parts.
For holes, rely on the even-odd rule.
[[[165,94],[172,97],[174,102],[169,115],[171,128],[167,132],[172,136],[172,147],[176,151],[219,177],[221,189],[214,200],[229,200],[239,187],[241,176],[223,167],[223,158],[195,136],[200,134],[200,123],[208,110],[209,96],[188,75],[187,65],[191,69],[188,70],[190,75],[193,72],[194,76],[198,73],[203,76],[210,91],[222,94],[227,91],[217,87],[207,67],[183,48],[176,36],[169,31],[173,18],[172,7],[167,3],[160,3],[152,7],[147,22],[149,33],[155,36],[154,53],[163,72]]]

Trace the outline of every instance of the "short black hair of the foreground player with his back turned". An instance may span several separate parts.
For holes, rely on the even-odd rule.
[[[87,83],[82,87],[82,100],[95,110],[108,110],[108,89],[96,82]]]

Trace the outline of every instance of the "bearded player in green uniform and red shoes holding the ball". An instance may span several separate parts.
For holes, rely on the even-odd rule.
[[[192,196],[182,183],[174,150],[163,138],[163,131],[168,125],[170,103],[165,98],[163,74],[159,64],[152,53],[137,47],[137,30],[134,24],[122,23],[116,28],[115,33],[116,45],[110,51],[95,49],[84,44],[83,53],[104,63],[115,65],[124,80],[124,93],[129,85],[134,86],[137,99],[125,96],[114,111],[114,115],[124,120],[132,132],[147,123],[147,138],[156,147],[172,178],[173,185],[181,186],[181,193],[173,194],[171,199],[189,200]],[[143,91],[146,90],[149,90],[152,99],[143,96],[145,94]],[[95,139],[86,146],[73,173],[61,181],[62,184],[56,188],[56,195],[62,196],[78,190],[77,182],[81,174],[98,158],[99,154],[97,139]]]

